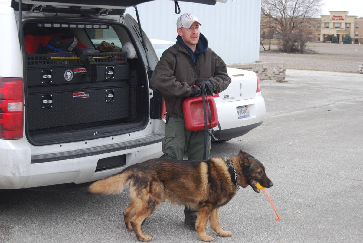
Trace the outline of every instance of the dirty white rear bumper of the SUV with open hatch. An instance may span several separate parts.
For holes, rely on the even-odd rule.
[[[33,148],[25,139],[0,139],[0,189],[96,181],[119,173],[134,163],[161,157],[162,137],[147,135],[124,143],[109,143],[103,146],[104,150],[90,147],[44,155],[31,155]],[[126,143],[132,144],[127,146]],[[126,166],[95,172],[99,159],[117,155],[126,155]],[[54,160],[57,156],[58,159]]]

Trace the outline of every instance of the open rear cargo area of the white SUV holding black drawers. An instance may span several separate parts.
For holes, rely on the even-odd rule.
[[[142,130],[149,117],[146,69],[138,50],[95,49],[93,38],[134,42],[127,28],[103,20],[23,22],[25,132],[34,145],[83,141]],[[93,80],[74,52],[52,47],[54,36],[76,37],[95,61]],[[69,44],[65,44],[67,47]],[[49,49],[51,46],[53,49]],[[135,46],[135,45],[134,45]]]

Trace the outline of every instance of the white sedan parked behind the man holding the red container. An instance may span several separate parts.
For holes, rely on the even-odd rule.
[[[159,57],[175,42],[151,39]],[[218,120],[221,131],[215,127],[218,141],[228,141],[242,136],[260,126],[266,116],[265,100],[261,95],[260,80],[255,72],[227,68],[231,84],[219,94],[215,94]]]

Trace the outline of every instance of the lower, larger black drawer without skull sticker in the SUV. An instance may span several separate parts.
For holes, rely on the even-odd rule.
[[[129,117],[129,87],[100,87],[28,96],[28,130]]]

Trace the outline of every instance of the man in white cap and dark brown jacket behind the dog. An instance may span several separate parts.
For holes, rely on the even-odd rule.
[[[191,13],[184,13],[176,21],[177,42],[164,51],[150,80],[154,89],[162,93],[166,104],[166,126],[163,139],[163,152],[167,158],[183,160],[203,160],[205,131],[185,129],[182,102],[187,97],[201,95],[198,86],[205,82],[207,93],[225,90],[231,78],[223,60],[208,48],[207,39],[200,33],[199,20]],[[212,89],[212,90],[211,90]],[[211,149],[208,135],[207,154]],[[184,208],[184,222],[195,230],[198,211]]]

